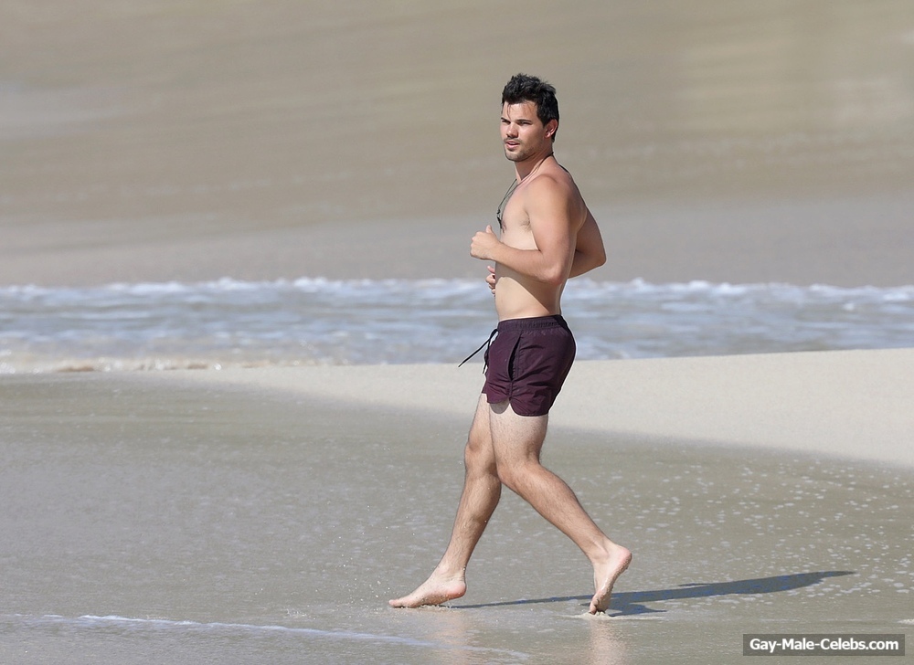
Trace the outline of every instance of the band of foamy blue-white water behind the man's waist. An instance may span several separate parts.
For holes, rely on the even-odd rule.
[[[909,346],[914,286],[575,280],[578,357]],[[279,280],[0,289],[0,374],[458,363],[494,327],[481,280]]]

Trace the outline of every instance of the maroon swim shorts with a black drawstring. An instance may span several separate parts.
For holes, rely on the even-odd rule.
[[[519,416],[545,416],[574,362],[574,336],[561,316],[508,319],[485,351],[483,393],[510,400]]]

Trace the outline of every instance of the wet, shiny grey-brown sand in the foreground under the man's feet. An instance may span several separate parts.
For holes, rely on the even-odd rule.
[[[613,616],[509,494],[467,596],[393,610],[446,542],[466,423],[167,376],[0,382],[0,660],[715,663],[914,618],[909,470],[558,429],[547,465],[635,553]]]

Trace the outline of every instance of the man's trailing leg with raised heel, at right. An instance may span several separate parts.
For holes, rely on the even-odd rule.
[[[505,402],[489,416],[498,478],[579,546],[593,565],[590,614],[610,606],[612,586],[628,568],[632,553],[613,543],[590,519],[568,484],[539,461],[548,416],[515,414]]]

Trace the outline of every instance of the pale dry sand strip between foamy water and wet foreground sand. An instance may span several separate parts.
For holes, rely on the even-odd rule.
[[[467,418],[482,385],[478,370],[478,364],[313,366],[168,377]],[[575,364],[550,424],[911,467],[911,404],[914,349],[590,361]]]

